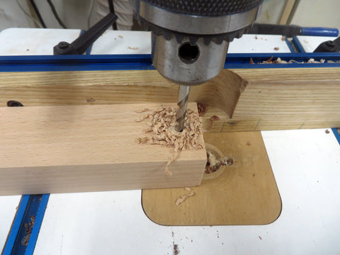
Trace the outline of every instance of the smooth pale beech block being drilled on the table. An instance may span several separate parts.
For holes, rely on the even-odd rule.
[[[0,195],[200,184],[204,148],[181,152],[167,176],[173,149],[137,143],[145,107],[159,104],[0,108]]]

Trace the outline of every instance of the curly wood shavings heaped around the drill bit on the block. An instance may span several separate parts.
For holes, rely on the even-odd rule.
[[[138,109],[137,113],[144,113],[145,109]],[[176,132],[176,108],[171,106],[161,106],[153,113],[146,113],[142,118],[136,120],[141,122],[147,120],[147,128],[145,135],[137,138],[139,144],[150,143],[152,145],[162,145],[164,147],[174,147],[167,164],[165,173],[172,175],[169,171],[169,164],[174,162],[182,150],[203,149],[203,145],[199,143],[200,135],[202,135],[201,125],[202,119],[194,111],[188,109],[186,111],[185,129],[182,132]]]

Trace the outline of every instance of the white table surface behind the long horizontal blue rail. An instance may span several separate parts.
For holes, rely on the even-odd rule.
[[[74,29],[8,28],[0,32],[0,55],[53,55],[53,47],[58,42],[72,42],[79,34],[80,30]],[[230,42],[228,52],[290,52],[281,38],[281,35],[243,35]],[[278,50],[274,50],[276,47]],[[150,53],[149,32],[108,30],[96,40],[91,49],[91,55]]]

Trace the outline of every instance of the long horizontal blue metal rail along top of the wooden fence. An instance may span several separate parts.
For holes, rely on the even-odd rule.
[[[250,64],[261,63],[273,56],[273,60],[307,62],[331,60],[339,63],[313,64]],[[226,69],[239,68],[304,68],[340,67],[340,53],[246,53],[227,55]],[[0,72],[47,72],[47,71],[96,71],[96,70],[145,70],[154,69],[151,55],[68,55],[68,56],[0,56]]]

